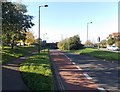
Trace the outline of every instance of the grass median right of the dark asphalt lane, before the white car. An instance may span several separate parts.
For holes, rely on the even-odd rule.
[[[106,60],[119,60],[120,54],[110,51],[103,51],[99,49],[85,48],[81,50],[71,50],[72,53],[94,56]]]

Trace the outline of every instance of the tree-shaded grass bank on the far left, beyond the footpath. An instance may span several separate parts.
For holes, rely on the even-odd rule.
[[[30,54],[33,51],[36,50],[35,46],[21,46],[21,47],[15,47],[14,49],[11,49],[11,47],[4,47],[2,49],[2,63],[6,63],[8,61],[14,60],[20,56],[24,56],[26,54]]]

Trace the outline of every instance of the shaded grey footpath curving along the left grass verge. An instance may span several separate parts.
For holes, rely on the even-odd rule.
[[[2,65],[2,92],[30,91],[21,78],[19,65],[34,54],[36,54],[36,52]]]

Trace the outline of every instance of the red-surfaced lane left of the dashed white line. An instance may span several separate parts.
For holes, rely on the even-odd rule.
[[[100,92],[98,86],[86,78],[63,53],[50,51],[51,61],[57,77],[59,90],[78,90],[79,92]]]

